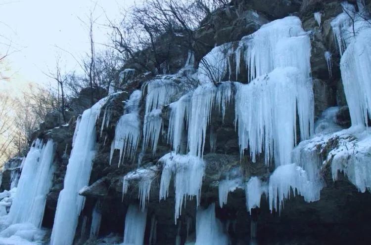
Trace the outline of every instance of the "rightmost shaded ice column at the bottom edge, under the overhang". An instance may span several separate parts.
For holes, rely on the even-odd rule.
[[[198,208],[196,214],[196,243],[194,245],[227,245],[228,235],[215,217],[215,204],[207,209]]]

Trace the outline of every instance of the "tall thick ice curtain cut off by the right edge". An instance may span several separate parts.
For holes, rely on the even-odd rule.
[[[371,28],[359,32],[340,60],[341,78],[352,126],[364,125],[371,115]]]

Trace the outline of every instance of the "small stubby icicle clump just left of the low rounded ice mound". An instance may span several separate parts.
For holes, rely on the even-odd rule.
[[[260,199],[264,193],[264,187],[260,179],[256,176],[250,178],[246,183],[245,194],[246,194],[246,208],[251,213],[251,209],[260,207]]]

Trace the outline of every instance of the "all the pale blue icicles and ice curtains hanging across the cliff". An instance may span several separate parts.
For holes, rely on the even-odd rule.
[[[367,123],[368,117],[371,116],[371,77],[368,73],[371,70],[371,31],[364,26],[362,20],[357,20],[357,38],[345,39],[345,33],[349,33],[347,28],[350,28],[348,18],[349,16],[340,14],[331,25],[342,54],[341,74],[352,125],[360,126]],[[316,20],[321,23],[319,15]],[[182,83],[174,79],[176,76],[161,77],[146,83],[143,124],[139,119],[142,91],[132,93],[126,102],[124,115],[117,123],[110,156],[111,161],[114,151],[119,150],[119,163],[124,158],[134,161],[142,136],[142,152],[138,157],[140,167],[123,178],[123,194],[128,191],[132,181],[139,182],[140,200],[139,206],[131,205],[128,208],[124,245],[143,244],[147,216],[145,206],[149,200],[151,183],[159,170],[156,165],[141,165],[140,156],[148,147],[151,147],[153,153],[156,152],[160,134],[164,133],[161,116],[164,106],[170,109],[167,139],[173,152],[159,160],[162,164],[159,196],[160,200],[168,198],[173,178],[175,222],[181,215],[186,199],[195,197],[197,206],[200,203],[202,180],[207,164],[202,156],[212,110],[221,111],[224,119],[228,107],[232,104],[241,157],[247,151],[255,162],[256,156],[264,154],[266,164],[274,161],[276,170],[271,174],[268,183],[262,182],[257,176],[245,181],[240,176],[234,178],[233,173],[230,174],[219,184],[220,205],[227,203],[228,193],[236,188],[245,189],[246,207],[249,211],[259,207],[263,193],[269,197],[272,211],[280,210],[291,189],[294,194],[304,196],[307,202],[319,200],[323,187],[319,176],[321,159],[316,155],[316,147],[313,145],[316,143],[314,141],[321,141],[326,137],[318,139],[316,136],[308,140],[314,134],[310,53],[310,40],[301,27],[300,19],[286,17],[263,25],[257,32],[243,38],[236,48],[229,43],[215,47],[200,62],[196,74],[201,85],[195,89],[186,86],[186,80]],[[248,83],[222,82],[215,85],[226,76],[231,76],[231,54],[235,59],[236,76],[239,74],[241,62],[246,65]],[[187,66],[190,63],[192,62],[187,61]],[[358,86],[352,85],[352,82],[356,82]],[[85,203],[79,191],[89,184],[95,155],[95,123],[102,106],[112,96],[115,95],[97,102],[77,121],[64,188],[58,198],[51,245],[71,245],[74,241],[80,212]],[[101,131],[107,127],[110,120],[109,106],[103,115]],[[302,142],[294,149],[297,144],[297,124],[300,127]],[[216,135],[210,137],[210,143],[214,146],[215,137]],[[363,142],[365,144],[361,146],[366,151],[369,149],[367,145],[371,142],[370,137],[364,137]],[[371,188],[371,179],[368,177],[370,174],[365,174],[371,173],[370,167],[356,157],[352,159],[346,157],[346,154],[333,154],[334,179],[340,170],[348,175],[360,191]],[[23,239],[25,234],[29,240],[34,241],[43,235],[38,228],[43,219],[46,194],[51,186],[53,155],[54,143],[51,140],[36,140],[33,143],[23,163],[16,197],[9,213],[1,219],[8,228],[0,233],[0,241],[12,236],[14,239],[15,235]],[[363,160],[368,158],[366,155],[362,156]],[[349,163],[349,168],[344,167],[345,162]],[[205,210],[198,208],[196,217],[196,245],[228,244],[228,236],[223,233],[220,221],[215,218],[214,204]],[[99,203],[94,207],[92,218],[91,236],[96,236],[101,220]],[[155,220],[151,223],[153,227],[150,241],[155,239],[153,236],[155,237],[156,232]],[[30,230],[34,231],[31,239]]]

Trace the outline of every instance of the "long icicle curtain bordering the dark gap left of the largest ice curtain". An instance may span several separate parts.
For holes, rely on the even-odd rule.
[[[210,123],[211,110],[215,105],[222,110],[222,116],[232,99],[232,83],[224,82],[216,87],[213,83],[199,86],[192,95],[188,126],[189,154],[202,156],[205,147],[206,129]]]

